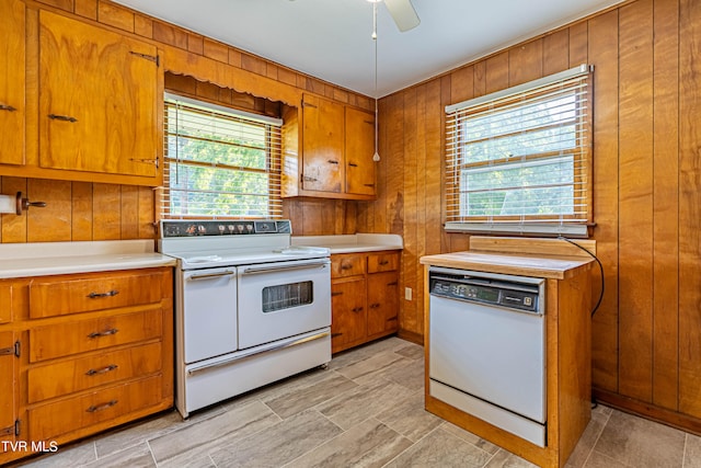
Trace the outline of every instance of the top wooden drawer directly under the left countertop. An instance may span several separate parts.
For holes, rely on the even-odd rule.
[[[30,284],[30,318],[64,316],[159,303],[160,273],[55,277]]]

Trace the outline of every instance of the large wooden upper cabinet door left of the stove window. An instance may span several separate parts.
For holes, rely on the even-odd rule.
[[[39,12],[39,165],[154,176],[158,50]]]

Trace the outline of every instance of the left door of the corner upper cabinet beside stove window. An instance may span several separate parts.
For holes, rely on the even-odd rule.
[[[309,94],[302,105],[302,189],[342,193],[343,105]]]

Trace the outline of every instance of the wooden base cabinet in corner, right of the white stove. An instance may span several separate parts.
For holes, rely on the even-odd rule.
[[[399,329],[399,252],[331,255],[331,343],[337,353]]]

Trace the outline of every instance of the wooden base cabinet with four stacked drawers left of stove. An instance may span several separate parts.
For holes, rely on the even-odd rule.
[[[171,408],[172,281],[170,267],[0,281],[13,317],[0,324],[0,441],[62,445]],[[20,356],[2,353],[15,339]]]

